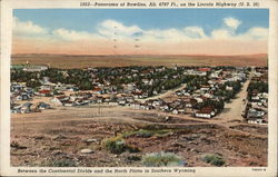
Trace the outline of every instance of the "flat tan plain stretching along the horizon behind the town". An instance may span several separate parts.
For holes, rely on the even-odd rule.
[[[54,68],[126,66],[267,66],[267,55],[252,56],[67,56],[14,55],[12,65],[50,65]]]

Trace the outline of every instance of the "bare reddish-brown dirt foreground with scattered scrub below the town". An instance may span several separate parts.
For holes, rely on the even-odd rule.
[[[212,121],[187,115],[165,116],[128,107],[56,107],[42,112],[11,116],[12,166],[140,167],[146,154],[173,153],[185,166],[206,167],[205,154],[217,154],[224,166],[267,166],[267,126],[221,118]],[[224,126],[225,125],[225,126]],[[148,136],[136,132],[156,131]],[[113,154],[107,138],[125,137],[135,151]],[[83,153],[82,149],[91,151]]]

